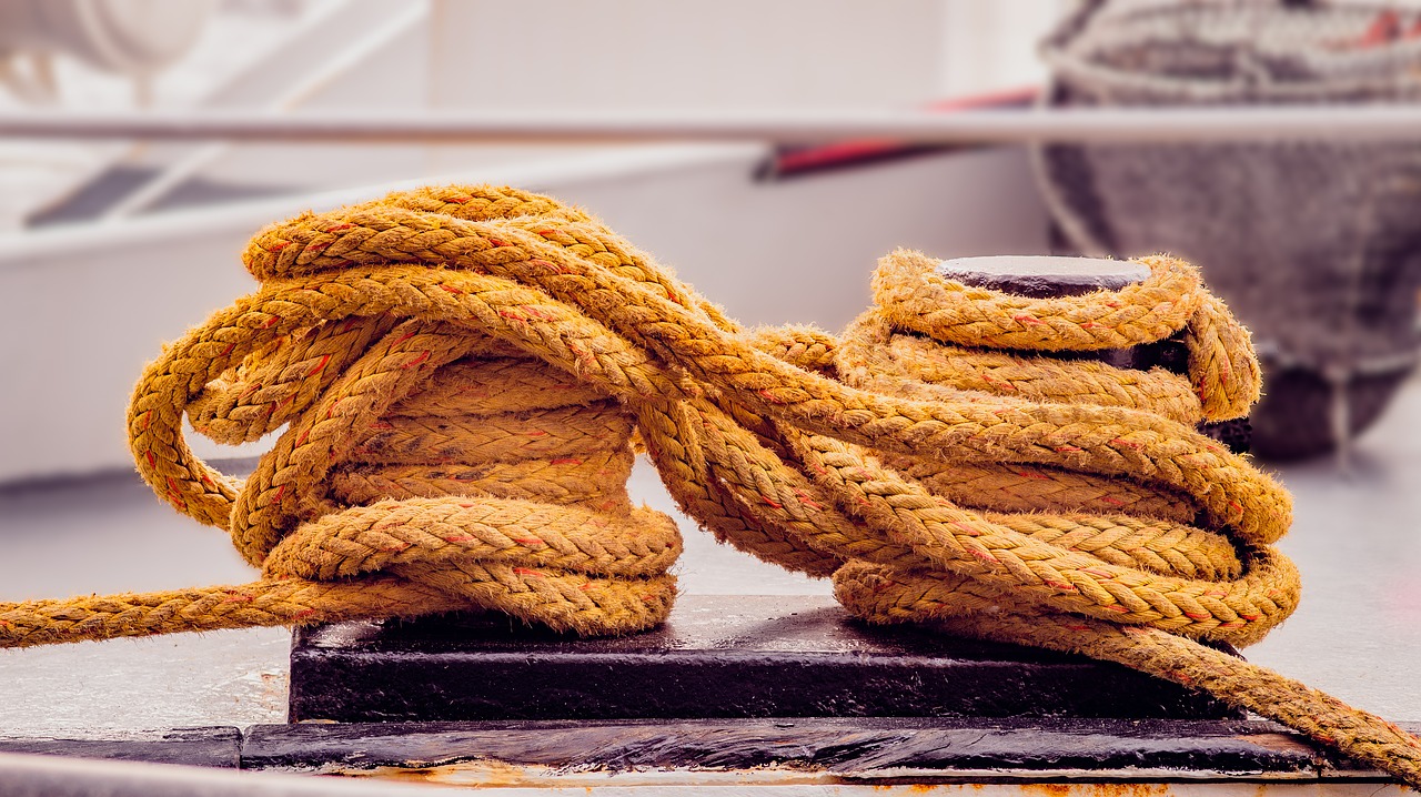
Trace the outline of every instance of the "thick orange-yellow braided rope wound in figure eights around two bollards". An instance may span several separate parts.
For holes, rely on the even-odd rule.
[[[1086,654],[1204,689],[1421,784],[1395,726],[1198,641],[1295,608],[1270,477],[1194,430],[1248,412],[1248,334],[1178,260],[1022,298],[898,251],[844,337],[747,332],[580,210],[432,188],[261,230],[257,293],[165,348],[139,473],[259,581],[0,605],[0,645],[500,609],[583,634],[671,609],[671,519],[632,429],[722,541],[872,622]],[[1052,359],[1184,331],[1189,378]],[[202,463],[283,425],[244,484]]]

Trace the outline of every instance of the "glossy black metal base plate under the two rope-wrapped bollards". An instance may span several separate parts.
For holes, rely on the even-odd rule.
[[[666,717],[1229,719],[1123,666],[909,627],[820,597],[685,595],[665,625],[611,639],[504,615],[296,632],[290,720]]]

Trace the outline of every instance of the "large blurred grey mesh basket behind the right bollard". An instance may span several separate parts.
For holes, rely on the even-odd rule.
[[[1043,53],[1059,107],[1421,99],[1421,13],[1383,6],[1103,10]],[[1036,163],[1071,247],[1187,257],[1253,330],[1265,389],[1286,388],[1255,413],[1259,453],[1346,440],[1414,367],[1421,142],[1071,143]]]

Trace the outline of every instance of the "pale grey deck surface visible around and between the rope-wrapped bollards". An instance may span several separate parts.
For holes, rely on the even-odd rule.
[[[1357,445],[1280,470],[1297,521],[1282,548],[1302,608],[1249,659],[1394,720],[1421,720],[1421,384]],[[649,467],[632,494],[674,511]],[[716,546],[685,521],[691,594],[827,595]],[[0,600],[236,584],[254,573],[225,536],[179,517],[132,475],[0,487]],[[0,651],[0,732],[159,729],[286,719],[284,629],[225,631]]]

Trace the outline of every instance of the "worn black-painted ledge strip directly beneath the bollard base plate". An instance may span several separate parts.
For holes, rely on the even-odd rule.
[[[256,726],[243,766],[431,767],[472,760],[554,769],[794,766],[887,770],[1309,773],[1324,756],[1249,720],[756,719]]]

